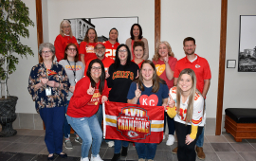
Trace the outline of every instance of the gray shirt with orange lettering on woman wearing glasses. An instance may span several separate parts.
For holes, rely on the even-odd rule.
[[[82,79],[83,77],[83,72],[84,72],[84,66],[82,64],[82,62],[78,61],[76,63],[76,67],[75,67],[75,62],[67,62],[67,60],[62,60],[59,62],[61,65],[64,66],[64,71],[68,77],[68,80],[70,82],[70,86],[75,86],[76,82],[75,80],[79,81]],[[71,66],[70,66],[71,65]],[[74,72],[76,73],[76,77],[74,75]],[[67,100],[70,100],[70,98],[73,96],[73,93],[69,91],[68,93],[68,97]]]

